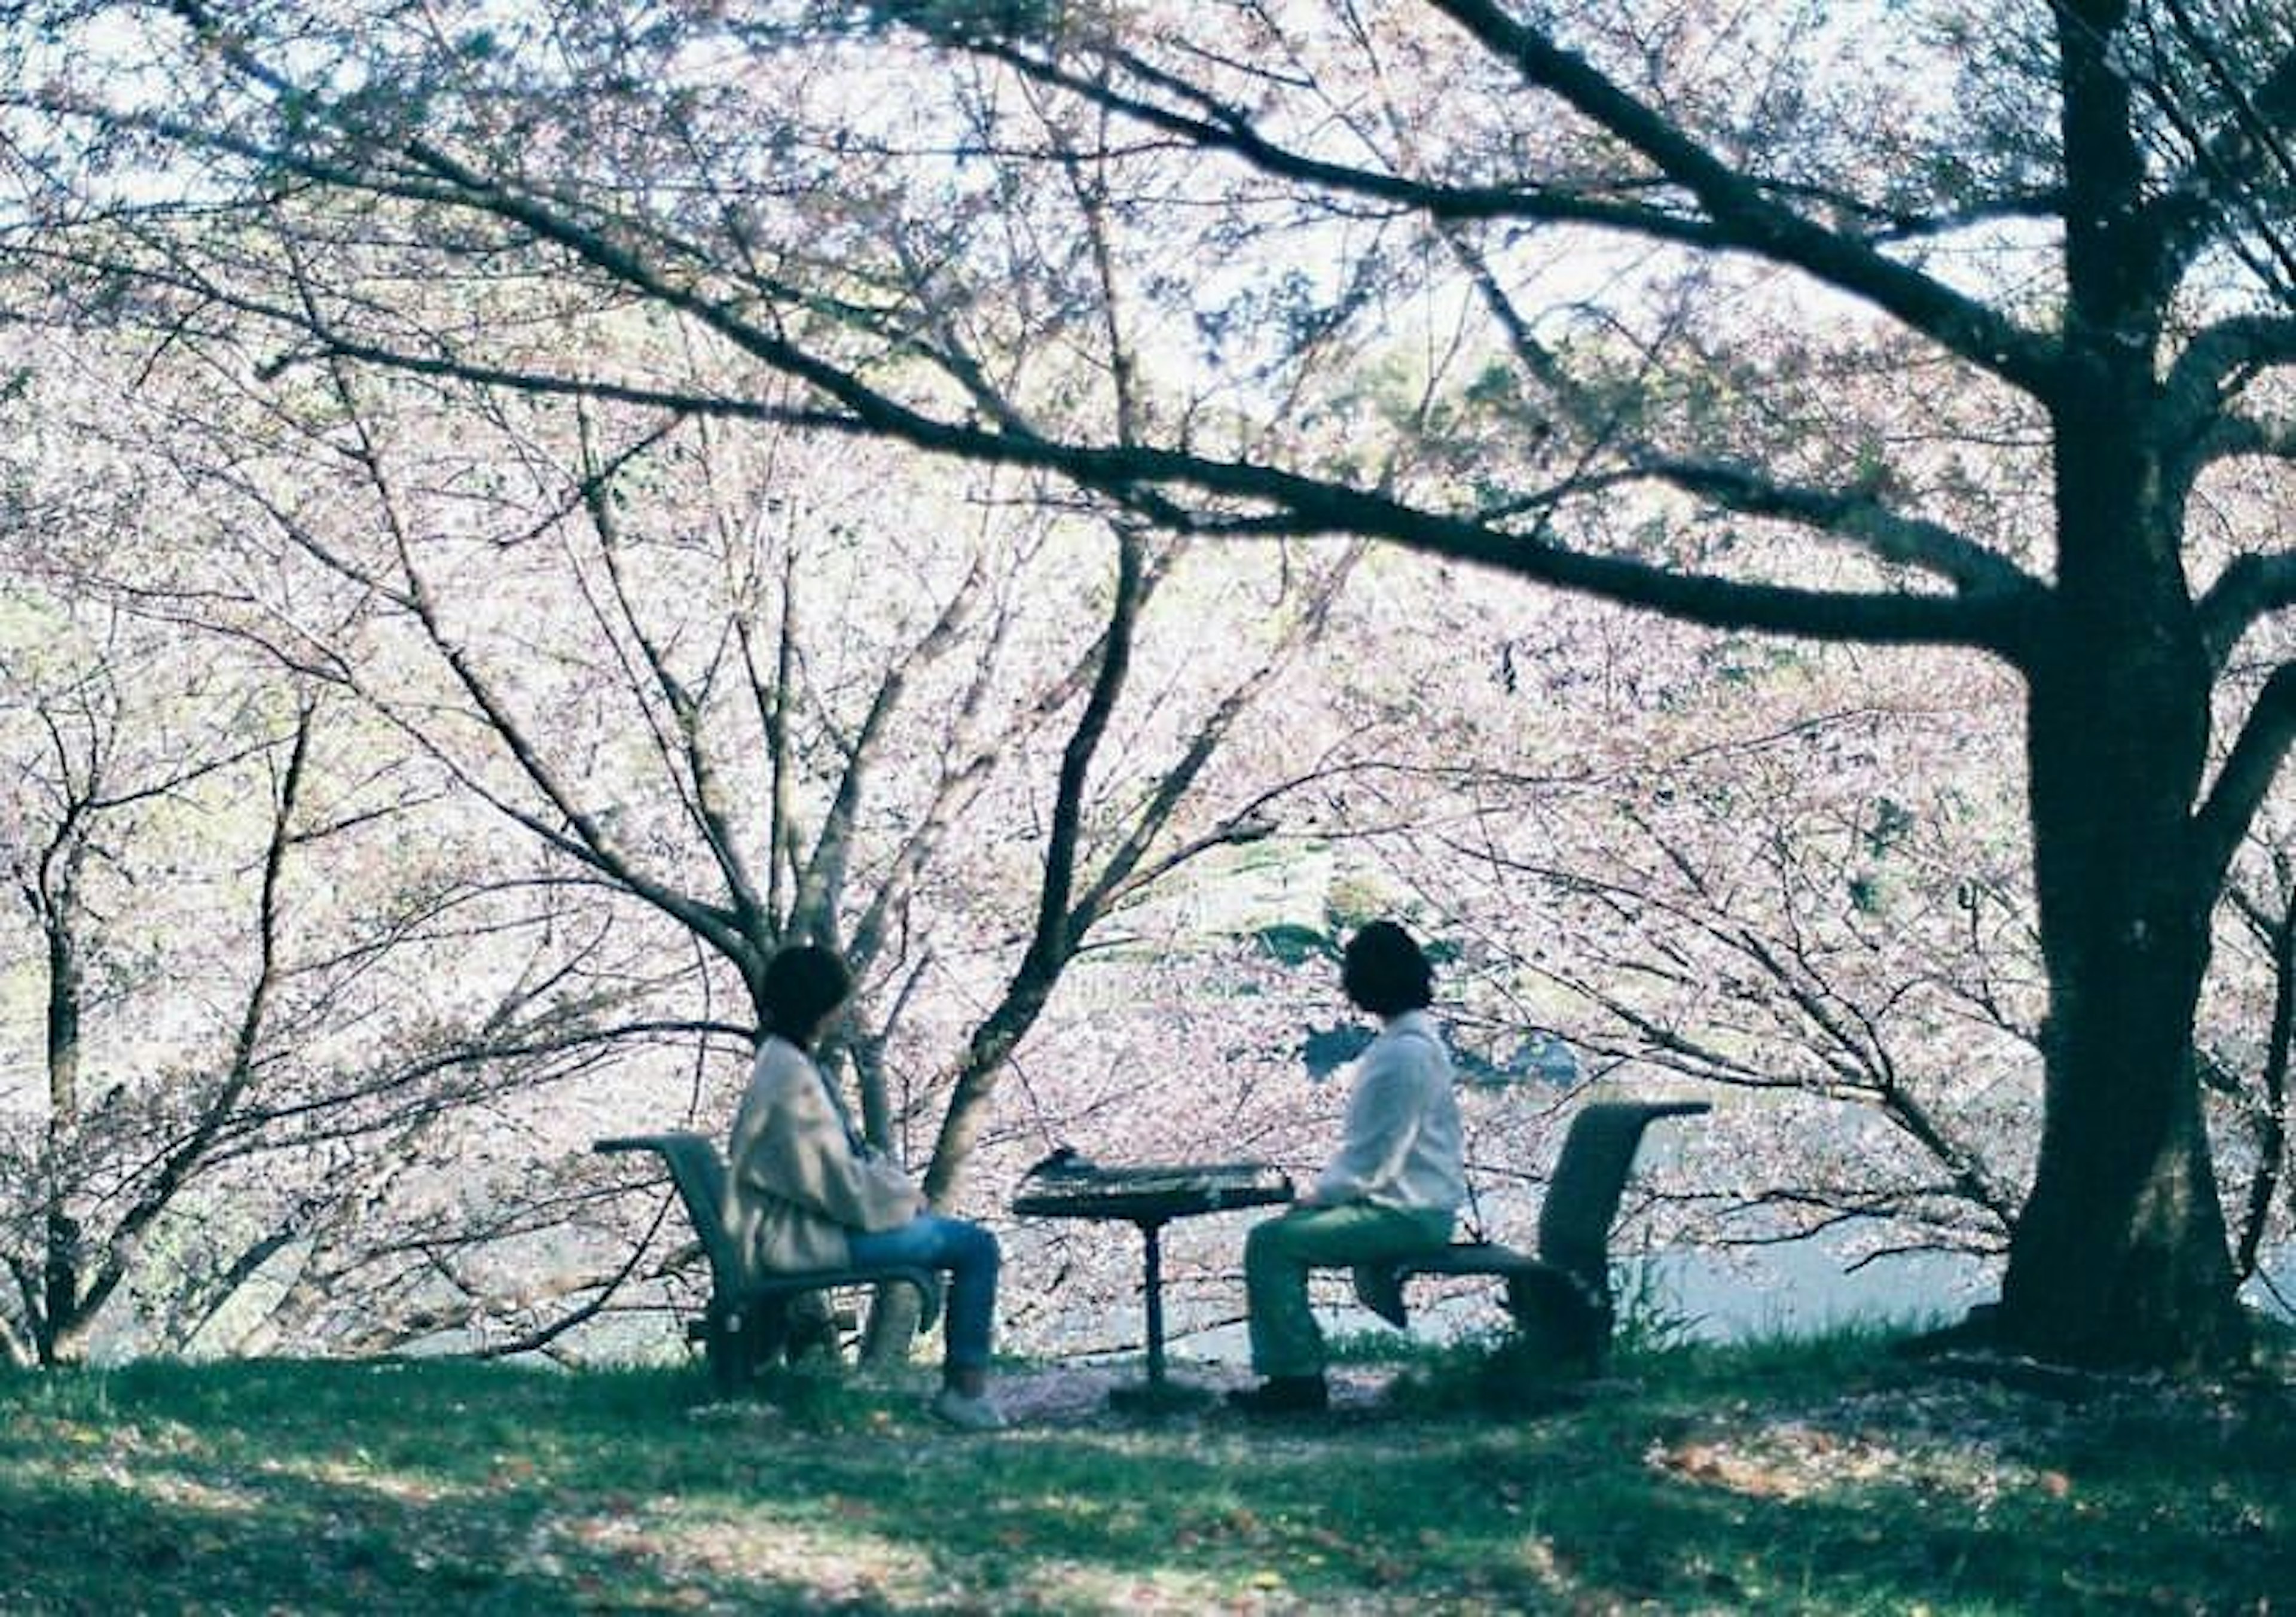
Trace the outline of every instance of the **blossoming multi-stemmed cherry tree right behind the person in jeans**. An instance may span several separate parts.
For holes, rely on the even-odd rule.
[[[218,333],[181,340],[172,404],[117,402],[122,452],[147,446],[195,540],[170,563],[122,547],[110,588],[354,698],[379,758],[514,827],[569,916],[652,951],[622,978],[647,1031],[746,1045],[771,951],[840,946],[866,990],[829,1054],[944,1206],[1093,928],[1267,834],[1219,756],[1352,567],[1325,547],[1212,570],[1013,478],[785,427],[349,370],[253,395],[232,363]],[[1212,622],[1233,655],[1194,655]],[[1095,767],[1104,744],[1120,763]],[[625,1084],[611,1116],[719,1128],[739,1070]],[[505,1250],[569,1217],[487,1206]],[[471,1316],[484,1289],[464,1291],[388,1330]],[[585,1316],[540,1314],[535,1346]]]

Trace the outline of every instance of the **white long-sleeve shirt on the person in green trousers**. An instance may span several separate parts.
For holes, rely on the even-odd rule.
[[[1467,1201],[1460,1153],[1451,1054],[1435,1018],[1389,1018],[1355,1063],[1348,1132],[1316,1181],[1316,1201],[1458,1213]]]

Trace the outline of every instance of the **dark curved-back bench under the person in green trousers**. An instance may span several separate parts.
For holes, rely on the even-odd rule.
[[[1609,1351],[1609,1224],[1642,1130],[1658,1119],[1711,1112],[1704,1100],[1596,1100],[1564,1135],[1564,1153],[1538,1208],[1538,1254],[1492,1240],[1355,1270],[1355,1291],[1394,1325],[1407,1321],[1403,1286],[1419,1275],[1497,1275],[1506,1312],[1541,1360],[1593,1374]]]

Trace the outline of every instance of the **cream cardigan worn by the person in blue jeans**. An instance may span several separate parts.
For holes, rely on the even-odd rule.
[[[843,1268],[845,1231],[900,1229],[925,1206],[893,1160],[854,1151],[822,1070],[781,1036],[758,1045],[726,1165],[728,1233],[758,1270]]]

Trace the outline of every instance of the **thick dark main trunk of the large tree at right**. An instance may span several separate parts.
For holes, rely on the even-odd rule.
[[[2204,1367],[2245,1328],[2193,1018],[2216,877],[2193,834],[2209,662],[2133,365],[2057,420],[2060,616],[2027,659],[2046,1119],[2000,1334],[2078,1364]]]

